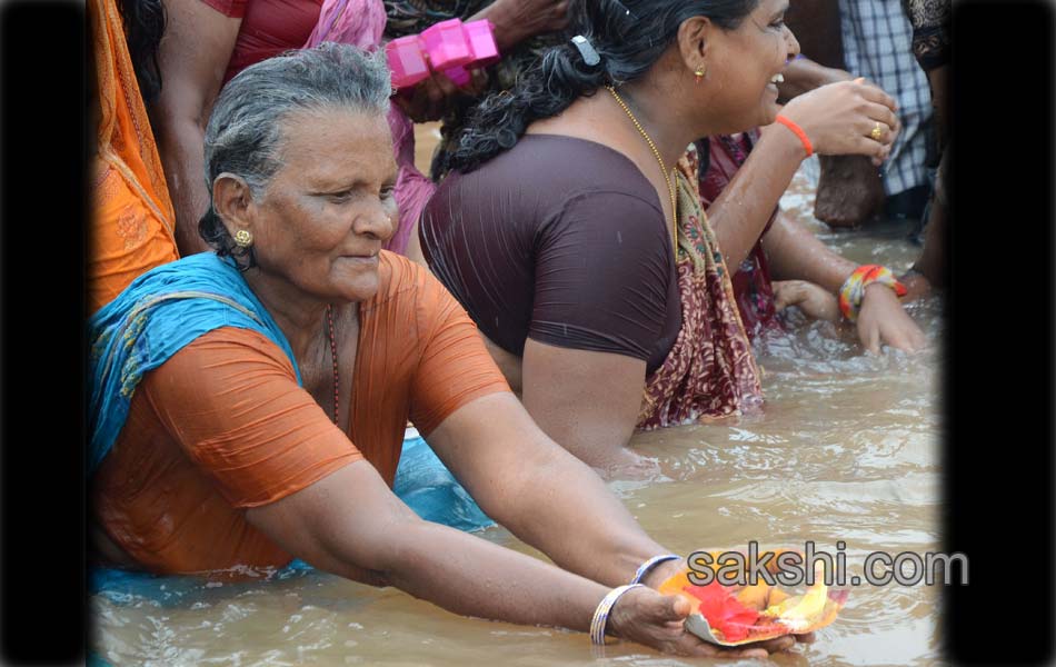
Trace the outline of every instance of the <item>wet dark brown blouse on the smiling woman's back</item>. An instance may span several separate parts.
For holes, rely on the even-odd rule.
[[[455,172],[422,213],[430,268],[481,331],[521,356],[557,347],[664,360],[680,327],[670,237],[656,190],[621,153],[526,135]]]

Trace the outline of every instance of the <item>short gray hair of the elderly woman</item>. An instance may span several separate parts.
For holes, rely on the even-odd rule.
[[[239,248],[213,208],[212,183],[223,172],[233,173],[259,197],[281,166],[288,116],[333,108],[385,116],[391,92],[383,51],[369,54],[348,44],[288,51],[239,72],[223,87],[206,127],[209,210],[198,226],[201,237],[218,255],[238,257]]]

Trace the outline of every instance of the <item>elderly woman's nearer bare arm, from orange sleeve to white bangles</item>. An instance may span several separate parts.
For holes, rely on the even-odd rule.
[[[319,569],[392,585],[450,611],[586,629],[606,587],[446,526],[419,519],[357,461],[247,519]]]

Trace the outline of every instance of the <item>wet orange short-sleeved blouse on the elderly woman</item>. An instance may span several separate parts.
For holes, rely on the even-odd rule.
[[[263,336],[222,328],[147,374],[92,482],[92,518],[142,567],[279,567],[291,555],[243,508],[273,502],[360,459],[392,485],[410,418],[425,435],[459,407],[508,391],[474,322],[425,269],[381,253],[360,303],[349,431],[297,386]]]

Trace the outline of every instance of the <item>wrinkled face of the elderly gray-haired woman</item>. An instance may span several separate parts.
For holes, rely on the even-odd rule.
[[[260,271],[319,299],[369,299],[378,291],[378,252],[397,223],[388,121],[301,111],[282,131],[282,166],[253,206]]]

